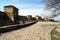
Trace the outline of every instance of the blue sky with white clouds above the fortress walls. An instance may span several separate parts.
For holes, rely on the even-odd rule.
[[[41,0],[0,0],[0,11],[4,11],[3,6],[14,5],[19,9],[19,15],[42,15],[47,16],[50,12],[44,10],[44,3]],[[60,20],[60,16],[55,19]]]

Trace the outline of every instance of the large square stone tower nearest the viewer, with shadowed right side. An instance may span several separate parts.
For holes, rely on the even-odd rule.
[[[18,9],[15,6],[12,6],[12,5],[4,6],[4,12],[12,21],[14,21],[15,24],[19,23]]]

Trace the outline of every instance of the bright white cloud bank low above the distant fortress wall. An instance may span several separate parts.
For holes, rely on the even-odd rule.
[[[19,10],[19,15],[43,16],[43,14],[44,14],[45,16],[47,16],[46,13],[47,12],[45,12],[43,9],[20,9]]]

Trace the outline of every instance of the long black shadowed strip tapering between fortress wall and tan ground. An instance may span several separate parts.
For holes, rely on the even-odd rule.
[[[14,30],[18,30],[21,28],[25,28],[25,27],[31,26],[35,23],[36,22],[25,24],[25,25],[17,25],[17,26],[12,26],[12,27],[0,28],[0,34],[10,32],[10,31],[14,31]]]

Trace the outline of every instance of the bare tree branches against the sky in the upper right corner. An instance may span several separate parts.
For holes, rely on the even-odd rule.
[[[46,7],[45,10],[52,10],[51,17],[58,16],[60,14],[60,0],[43,0]]]

